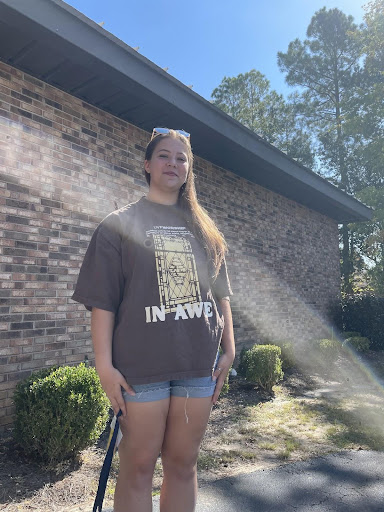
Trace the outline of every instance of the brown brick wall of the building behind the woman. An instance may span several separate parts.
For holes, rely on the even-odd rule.
[[[92,358],[90,314],[69,297],[97,223],[145,193],[147,142],[0,63],[0,427],[19,379]],[[339,287],[337,223],[200,158],[195,171],[230,247],[239,345],[323,333]]]

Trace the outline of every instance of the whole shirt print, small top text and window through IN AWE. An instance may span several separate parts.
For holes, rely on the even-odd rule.
[[[201,302],[196,261],[189,241],[193,234],[185,227],[154,226],[146,235],[153,238],[159,286],[159,306],[145,308],[146,322],[164,321],[167,313],[175,313],[175,320],[200,318],[203,312],[212,316],[212,304]]]

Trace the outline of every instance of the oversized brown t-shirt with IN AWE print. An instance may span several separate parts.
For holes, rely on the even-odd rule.
[[[115,313],[113,365],[128,383],[211,375],[232,295],[182,211],[146,198],[96,228],[72,299]]]

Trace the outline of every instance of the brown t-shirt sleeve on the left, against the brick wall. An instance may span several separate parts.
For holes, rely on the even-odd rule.
[[[119,218],[110,214],[93,233],[72,299],[88,311],[95,307],[116,313],[123,292]]]

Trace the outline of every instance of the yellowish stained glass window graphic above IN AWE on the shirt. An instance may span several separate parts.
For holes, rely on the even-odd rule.
[[[195,257],[189,240],[177,235],[153,235],[160,306],[176,311],[177,304],[201,302]]]

